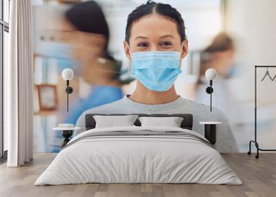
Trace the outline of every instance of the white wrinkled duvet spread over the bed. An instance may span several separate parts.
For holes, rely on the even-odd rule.
[[[180,136],[103,136],[94,132],[181,131],[175,127],[90,129],[68,143],[34,185],[78,183],[203,183],[241,185],[235,172],[213,147]],[[206,140],[206,139],[205,139]]]

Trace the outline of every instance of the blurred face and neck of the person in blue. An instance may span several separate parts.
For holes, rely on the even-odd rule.
[[[106,47],[106,37],[78,31],[65,18],[61,20],[59,28],[59,40],[72,45],[72,58],[79,62],[78,72],[86,82],[97,83],[113,76],[112,72],[105,72],[110,70],[110,62],[99,61]]]

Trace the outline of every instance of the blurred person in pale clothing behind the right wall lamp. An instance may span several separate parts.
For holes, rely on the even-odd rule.
[[[210,105],[210,94],[206,93],[206,87],[210,85],[210,82],[205,77],[208,68],[217,70],[217,77],[213,81],[213,106],[228,117],[239,148],[245,146],[247,149],[248,141],[240,137],[240,133],[246,131],[243,112],[248,110],[238,101],[238,94],[243,94],[237,88],[239,85],[237,79],[242,76],[242,70],[239,69],[240,63],[235,61],[235,43],[228,34],[224,32],[217,34],[213,42],[201,54],[199,79],[195,86],[195,101],[204,105]]]

